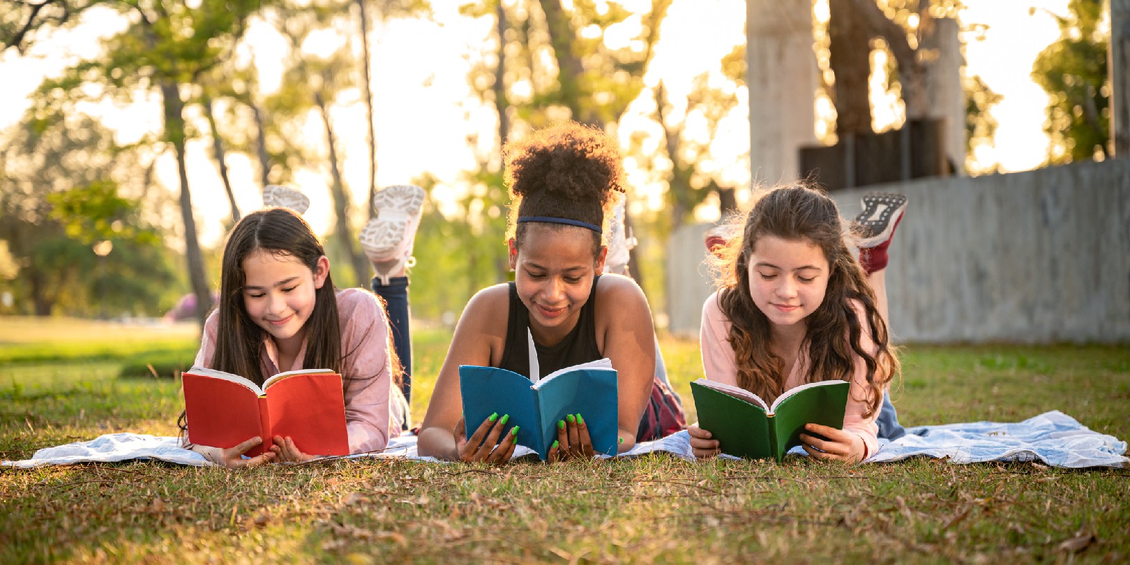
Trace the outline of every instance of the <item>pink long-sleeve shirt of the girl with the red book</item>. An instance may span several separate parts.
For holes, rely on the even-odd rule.
[[[338,290],[338,322],[341,328],[341,380],[346,402],[346,428],[349,452],[383,449],[389,438],[399,434],[405,420],[403,394],[392,381],[389,356],[389,322],[380,299],[360,288]],[[211,367],[216,354],[219,315],[212,312],[205,322],[205,332],[197,353],[195,365]],[[306,344],[302,342],[294,365],[279,367],[278,347],[267,337],[259,363],[263,375],[307,367]],[[266,438],[264,438],[266,440]]]

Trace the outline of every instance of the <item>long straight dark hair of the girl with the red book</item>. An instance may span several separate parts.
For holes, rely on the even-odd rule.
[[[220,331],[216,336],[216,355],[209,366],[262,384],[270,376],[262,373],[259,362],[266,332],[251,320],[243,304],[243,286],[246,284],[243,260],[257,251],[297,259],[311,271],[316,271],[318,260],[325,254],[325,250],[310,224],[288,208],[251,212],[236,224],[227,238],[219,279]],[[315,293],[314,311],[306,320],[303,364],[340,373],[341,329],[334,292],[333,279],[327,273],[325,284]]]

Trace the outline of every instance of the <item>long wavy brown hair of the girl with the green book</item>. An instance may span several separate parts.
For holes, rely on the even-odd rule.
[[[783,360],[770,349],[770,320],[750,295],[749,255],[765,236],[806,241],[820,247],[831,272],[824,302],[805,320],[808,346],[805,382],[851,382],[854,359],[859,357],[867,365],[869,385],[862,399],[869,405],[864,416],[875,414],[881,403],[883,389],[894,375],[901,374],[901,365],[887,324],[876,306],[875,290],[847,247],[845,238],[851,234],[835,201],[805,183],[780,186],[762,193],[749,211],[732,223],[731,233],[740,235],[730,237],[715,267],[718,303],[731,322],[728,340],[734,351],[738,384],[767,402],[784,392],[789,375],[783,374]],[[877,346],[875,354],[861,346],[864,324],[853,307],[855,302],[863,306],[866,325]]]

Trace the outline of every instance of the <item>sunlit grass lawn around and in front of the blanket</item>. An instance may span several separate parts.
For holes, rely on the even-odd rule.
[[[191,363],[194,328],[0,322],[0,459],[105,433],[175,434],[179,383],[119,374]],[[449,337],[415,336],[417,419]],[[697,344],[661,345],[689,405]],[[909,346],[903,359],[904,424],[1058,409],[1130,438],[1124,346]],[[0,469],[0,563],[142,559],[1118,563],[1130,559],[1130,470],[667,457]]]

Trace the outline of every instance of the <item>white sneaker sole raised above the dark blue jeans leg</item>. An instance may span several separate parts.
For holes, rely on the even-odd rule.
[[[392,272],[416,264],[412,244],[425,195],[424,189],[411,184],[386,186],[376,193],[373,202],[376,217],[362,228],[360,247],[373,262],[382,285],[389,284]]]

